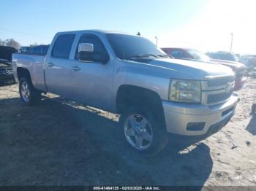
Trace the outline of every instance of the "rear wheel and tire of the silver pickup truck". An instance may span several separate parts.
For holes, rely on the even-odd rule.
[[[19,82],[20,98],[24,104],[34,106],[41,101],[41,93],[34,89],[31,81],[22,77]]]

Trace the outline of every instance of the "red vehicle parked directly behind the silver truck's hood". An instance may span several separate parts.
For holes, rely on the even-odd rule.
[[[236,74],[236,82],[234,90],[240,90],[245,82],[246,82],[246,66],[243,63],[238,63],[236,61],[237,56],[230,54],[226,55],[225,53],[220,52],[219,55],[225,55],[223,57],[214,57],[214,58],[229,58],[230,60],[224,60],[224,59],[213,59],[209,58],[208,55],[203,54],[202,52],[195,50],[195,49],[189,49],[189,48],[176,48],[176,47],[166,47],[162,48],[162,50],[167,53],[167,55],[172,55],[174,58],[179,59],[191,59],[191,60],[197,60],[208,63],[217,63],[221,65],[225,65],[233,69],[233,71]]]

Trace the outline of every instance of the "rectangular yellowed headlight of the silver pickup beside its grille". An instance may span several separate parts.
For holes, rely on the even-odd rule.
[[[199,81],[171,79],[169,90],[170,101],[200,103],[201,84]]]

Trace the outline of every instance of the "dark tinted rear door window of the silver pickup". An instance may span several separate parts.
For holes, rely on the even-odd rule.
[[[55,58],[69,58],[72,43],[75,34],[62,34],[57,37],[52,50],[52,56]]]

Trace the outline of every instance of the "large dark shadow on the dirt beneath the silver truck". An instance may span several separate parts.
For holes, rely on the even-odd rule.
[[[102,112],[50,99],[29,107],[12,98],[0,106],[1,185],[203,186],[211,174],[213,160],[203,143],[189,147],[181,140],[158,155],[141,156]]]

